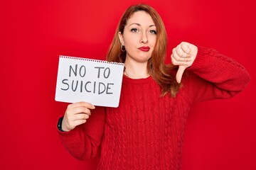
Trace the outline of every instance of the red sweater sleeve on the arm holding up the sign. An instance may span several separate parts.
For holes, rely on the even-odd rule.
[[[64,147],[76,159],[86,160],[97,155],[105,126],[105,108],[96,107],[87,122],[68,132],[58,130]]]

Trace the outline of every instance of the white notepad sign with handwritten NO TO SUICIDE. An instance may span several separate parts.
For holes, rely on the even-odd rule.
[[[55,101],[119,106],[124,64],[60,55]]]

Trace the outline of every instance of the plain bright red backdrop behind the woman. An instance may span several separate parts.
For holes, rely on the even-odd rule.
[[[104,60],[125,8],[140,2],[166,24],[166,62],[187,41],[233,57],[252,77],[235,98],[193,106],[182,169],[256,169],[252,0],[0,1],[0,169],[95,169],[97,158],[80,162],[58,139],[56,122],[67,106],[54,101],[58,55]]]

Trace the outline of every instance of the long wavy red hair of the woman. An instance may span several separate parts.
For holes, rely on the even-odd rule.
[[[172,64],[165,64],[166,49],[167,49],[167,35],[159,13],[149,5],[139,4],[130,6],[124,12],[117,30],[114,33],[114,38],[107,52],[107,61],[124,63],[126,52],[121,50],[121,42],[119,41],[119,32],[124,33],[124,27],[127,25],[127,20],[137,11],[145,11],[149,13],[156,26],[156,45],[151,53],[151,58],[148,61],[147,69],[151,77],[161,86],[161,92],[164,96],[170,93],[171,96],[176,96],[181,84],[176,82],[174,74],[171,70],[175,67]]]

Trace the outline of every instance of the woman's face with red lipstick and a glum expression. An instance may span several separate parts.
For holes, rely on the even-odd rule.
[[[145,11],[135,12],[128,19],[124,33],[119,32],[119,40],[127,52],[126,60],[147,62],[156,44],[156,26]]]

